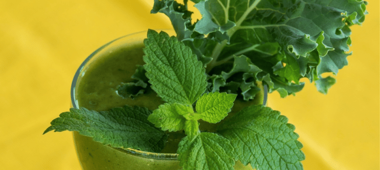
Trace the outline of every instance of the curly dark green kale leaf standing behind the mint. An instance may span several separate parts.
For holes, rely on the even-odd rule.
[[[176,25],[179,40],[207,66],[210,89],[237,91],[244,100],[252,99],[257,85],[220,77],[232,71],[236,56],[248,57],[260,69],[250,82],[263,81],[281,97],[295,94],[304,86],[300,79],[324,79],[323,73],[337,74],[347,65],[349,27],[360,25],[367,14],[362,0],[192,1],[202,14],[192,24],[186,1],[155,0],[152,13],[165,13]],[[331,84],[317,85],[324,92],[320,89]]]

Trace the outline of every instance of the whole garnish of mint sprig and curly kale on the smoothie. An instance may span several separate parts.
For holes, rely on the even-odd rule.
[[[44,133],[74,130],[113,147],[159,152],[163,130],[184,130],[177,150],[184,170],[233,170],[236,161],[257,170],[302,170],[302,144],[279,111],[251,105],[226,117],[235,99],[253,99],[261,84],[285,97],[307,78],[326,94],[335,79],[322,74],[347,65],[349,27],[364,21],[367,2],[192,1],[202,14],[195,23],[188,0],[154,1],[151,13],[166,14],[177,37],[148,30],[146,64],[118,88],[123,97],[151,88],[166,103],[153,111],[70,109]],[[199,129],[203,122],[218,123],[215,132]]]

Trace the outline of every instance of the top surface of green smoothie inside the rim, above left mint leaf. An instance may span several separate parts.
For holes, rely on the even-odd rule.
[[[124,98],[117,94],[122,83],[132,82],[136,65],[143,65],[143,44],[112,50],[88,68],[77,88],[76,98],[80,107],[105,111],[124,105],[147,107],[154,110],[162,104],[154,92],[136,98]]]

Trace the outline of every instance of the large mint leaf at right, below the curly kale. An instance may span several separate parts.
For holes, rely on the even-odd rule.
[[[257,170],[302,170],[305,159],[295,127],[262,105],[242,109],[217,131],[231,141],[236,159]]]

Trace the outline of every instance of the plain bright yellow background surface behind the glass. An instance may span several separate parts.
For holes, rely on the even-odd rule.
[[[379,1],[352,27],[353,55],[328,95],[269,95],[295,125],[305,170],[379,170]],[[171,28],[153,0],[0,1],[0,169],[80,170],[71,132],[42,135],[70,106],[81,62],[126,34]],[[306,82],[306,80],[304,80]]]

